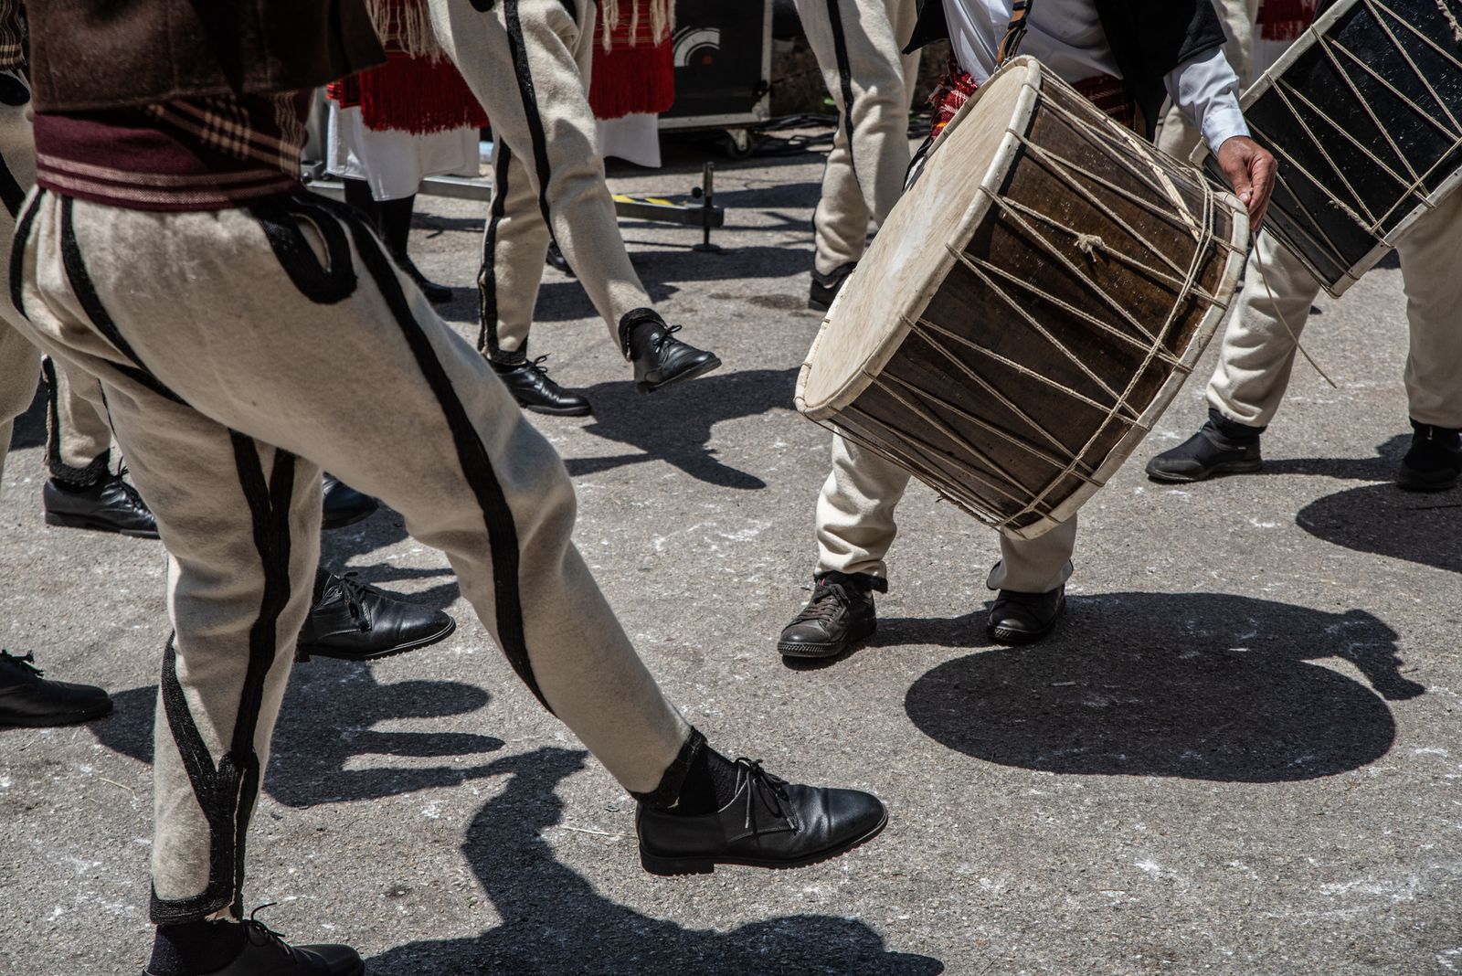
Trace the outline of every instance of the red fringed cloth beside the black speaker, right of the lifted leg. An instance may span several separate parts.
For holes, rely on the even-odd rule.
[[[630,16],[594,45],[589,107],[595,118],[662,113],[675,102],[675,54],[668,23],[655,37],[652,0],[632,0]],[[664,18],[664,15],[661,15]]]

